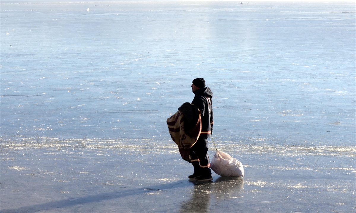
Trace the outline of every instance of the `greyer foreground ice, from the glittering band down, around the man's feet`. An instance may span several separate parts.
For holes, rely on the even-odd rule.
[[[219,144],[244,178],[190,182],[155,139],[2,142],[1,212],[355,211],[355,147]]]

